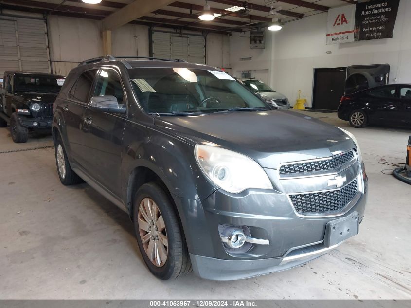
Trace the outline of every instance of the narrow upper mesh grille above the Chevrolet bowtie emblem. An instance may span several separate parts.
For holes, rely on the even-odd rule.
[[[310,172],[321,172],[334,170],[354,157],[353,151],[333,156],[330,159],[312,161],[307,163],[286,164],[280,167],[280,174],[304,174]]]

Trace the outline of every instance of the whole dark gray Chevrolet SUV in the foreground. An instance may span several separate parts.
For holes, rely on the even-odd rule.
[[[90,59],[68,75],[52,129],[60,181],[122,208],[164,280],[289,269],[357,235],[364,217],[354,136],[275,109],[214,67]]]

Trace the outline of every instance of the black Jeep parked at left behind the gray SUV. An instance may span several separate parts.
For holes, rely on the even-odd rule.
[[[38,72],[4,72],[0,99],[0,127],[7,127],[16,143],[26,142],[29,130],[46,131],[53,120],[53,103],[65,77]]]

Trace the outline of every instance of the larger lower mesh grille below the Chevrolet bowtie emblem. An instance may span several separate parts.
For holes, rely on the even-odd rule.
[[[289,195],[299,214],[340,212],[358,192],[358,179],[339,190]]]

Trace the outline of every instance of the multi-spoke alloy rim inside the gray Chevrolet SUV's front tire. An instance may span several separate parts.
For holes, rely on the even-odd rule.
[[[145,253],[155,266],[162,267],[168,255],[167,234],[160,209],[150,198],[140,202],[138,225]]]

